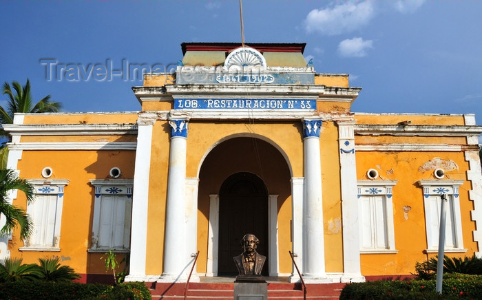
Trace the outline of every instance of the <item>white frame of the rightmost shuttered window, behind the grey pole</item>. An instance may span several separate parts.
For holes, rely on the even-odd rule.
[[[448,204],[451,204],[447,208],[447,214],[452,213],[453,221],[452,226],[454,226],[454,237],[455,243],[457,244],[455,248],[448,248],[447,246],[444,247],[444,252],[446,253],[462,253],[466,252],[467,249],[463,248],[463,228],[462,228],[462,219],[461,219],[461,210],[460,210],[460,197],[459,197],[459,186],[461,186],[465,181],[464,180],[419,180],[418,184],[421,186],[423,191],[423,208],[424,208],[424,215],[425,215],[425,229],[426,229],[426,246],[427,248],[424,250],[426,253],[438,253],[439,251],[439,244],[437,238],[437,244],[432,245],[432,236],[439,235],[439,232],[436,233],[432,232],[432,218],[430,217],[430,197],[431,196],[438,196],[440,197],[444,193],[448,196],[451,196],[451,202],[449,201]],[[450,211],[451,210],[451,211]],[[439,211],[437,211],[439,213]],[[440,221],[437,219],[439,223],[438,230],[440,230]]]

